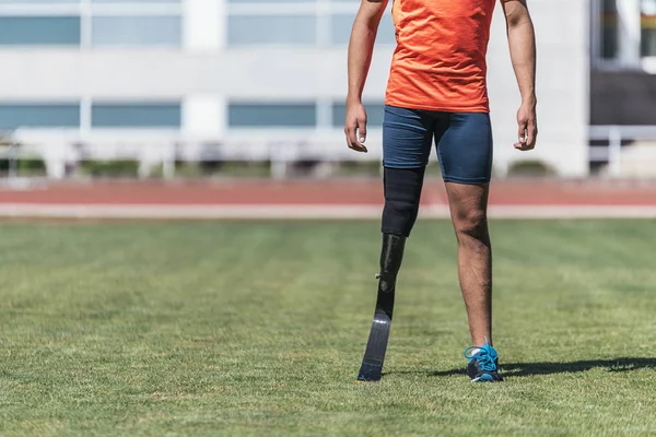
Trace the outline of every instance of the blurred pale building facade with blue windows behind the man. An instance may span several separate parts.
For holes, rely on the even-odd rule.
[[[397,0],[399,1],[399,0]],[[622,0],[628,1],[628,0]],[[352,0],[0,0],[0,130],[37,135],[321,139],[339,151]],[[497,7],[489,48],[495,167],[588,172],[589,0],[532,0],[540,142],[513,150],[519,93]],[[364,93],[379,157],[395,36],[385,14]]]

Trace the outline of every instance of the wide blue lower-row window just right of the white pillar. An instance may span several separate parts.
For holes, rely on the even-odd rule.
[[[231,103],[227,107],[230,127],[314,128],[316,122],[314,103]]]

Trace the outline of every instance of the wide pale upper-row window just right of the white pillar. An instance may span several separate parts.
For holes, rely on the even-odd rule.
[[[235,15],[227,21],[230,45],[315,45],[313,15]]]

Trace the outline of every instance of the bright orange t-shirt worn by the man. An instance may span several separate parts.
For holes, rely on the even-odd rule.
[[[385,103],[487,113],[488,40],[496,0],[394,0],[397,35]]]

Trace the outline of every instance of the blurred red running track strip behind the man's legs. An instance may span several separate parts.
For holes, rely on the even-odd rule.
[[[427,179],[424,205],[445,205],[442,180]],[[0,205],[353,205],[383,204],[378,179],[50,182],[0,188]],[[504,179],[490,205],[656,206],[656,181]]]

